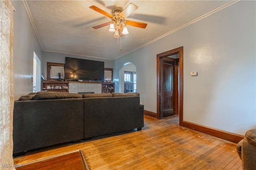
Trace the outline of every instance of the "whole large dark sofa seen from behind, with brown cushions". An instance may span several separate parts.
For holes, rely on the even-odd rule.
[[[138,93],[38,92],[14,102],[13,153],[144,127]]]

